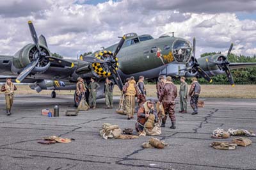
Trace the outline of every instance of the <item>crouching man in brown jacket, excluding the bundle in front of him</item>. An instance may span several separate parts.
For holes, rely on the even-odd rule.
[[[145,123],[148,120],[150,114],[154,114],[154,100],[147,100],[143,105],[141,105],[138,111],[138,118],[135,124],[136,131],[143,132]],[[157,120],[157,116],[155,115],[155,121]]]

